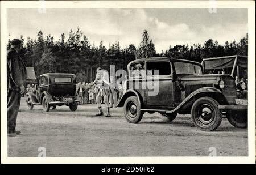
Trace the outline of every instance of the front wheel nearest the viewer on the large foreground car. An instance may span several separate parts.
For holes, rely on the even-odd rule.
[[[201,97],[192,106],[191,115],[194,124],[200,130],[213,131],[220,126],[222,113],[218,110],[218,101],[211,97]]]

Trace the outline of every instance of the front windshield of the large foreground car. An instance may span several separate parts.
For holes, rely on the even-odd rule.
[[[201,75],[202,70],[199,65],[187,62],[175,62],[174,63],[176,74],[191,74]]]

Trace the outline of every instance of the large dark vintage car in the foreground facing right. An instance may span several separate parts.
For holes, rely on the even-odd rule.
[[[158,112],[168,121],[177,113],[191,114],[195,126],[204,131],[217,129],[222,118],[235,127],[247,127],[246,84],[236,86],[228,74],[204,75],[200,63],[163,57],[137,59],[127,70],[118,107],[123,106],[130,123],[141,121],[144,112]]]

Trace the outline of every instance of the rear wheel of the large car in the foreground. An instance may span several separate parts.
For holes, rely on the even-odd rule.
[[[129,123],[138,123],[143,117],[143,112],[141,112],[138,99],[135,96],[126,99],[123,112],[125,113],[125,119]]]

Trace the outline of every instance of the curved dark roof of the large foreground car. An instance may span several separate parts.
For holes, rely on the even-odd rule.
[[[130,67],[131,64],[137,63],[137,62],[144,62],[144,61],[172,61],[172,62],[187,62],[187,63],[193,63],[196,65],[201,65],[199,62],[195,61],[189,61],[187,59],[175,59],[175,58],[168,58],[168,57],[150,57],[150,58],[141,58],[141,59],[135,59],[134,61],[131,61],[127,67]]]

